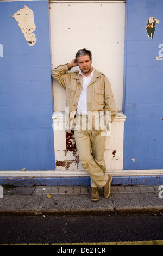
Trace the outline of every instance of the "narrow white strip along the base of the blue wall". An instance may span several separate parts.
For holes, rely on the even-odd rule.
[[[112,176],[163,176],[163,170],[107,170]],[[73,178],[89,176],[84,170],[0,171],[0,178]]]

